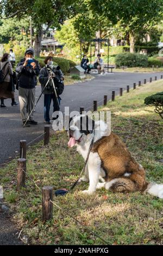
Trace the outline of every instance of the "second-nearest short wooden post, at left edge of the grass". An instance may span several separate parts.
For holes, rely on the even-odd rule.
[[[26,186],[26,159],[17,160],[17,191]]]

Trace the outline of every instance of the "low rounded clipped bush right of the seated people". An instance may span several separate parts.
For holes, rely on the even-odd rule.
[[[117,54],[117,56],[115,57],[115,64],[117,66],[146,67],[148,66],[148,57],[146,55],[139,54],[139,53],[124,52],[124,53]]]

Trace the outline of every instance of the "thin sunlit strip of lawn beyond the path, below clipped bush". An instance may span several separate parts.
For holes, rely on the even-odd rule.
[[[135,67],[135,68],[124,68],[124,69],[114,69],[113,72],[139,72],[139,73],[155,73],[155,72],[162,72],[163,71],[163,67],[160,68],[139,68],[139,67]]]

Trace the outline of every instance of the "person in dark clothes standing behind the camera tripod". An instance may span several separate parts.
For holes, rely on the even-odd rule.
[[[43,67],[40,71],[39,82],[41,83],[41,89],[44,94],[44,123],[51,124],[51,119],[49,117],[51,101],[53,100],[53,112],[59,111],[61,100],[59,95],[62,94],[64,90],[64,75],[59,66],[55,67],[53,65],[52,56],[46,57],[45,64],[46,66]],[[54,86],[56,88],[57,95],[55,95],[53,83],[49,81],[49,83],[47,84],[49,77],[52,77],[54,81]],[[46,84],[47,87],[45,89]],[[53,118],[53,120],[57,118]]]

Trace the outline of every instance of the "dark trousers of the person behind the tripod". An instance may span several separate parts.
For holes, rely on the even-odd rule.
[[[44,95],[44,119],[46,122],[49,122],[51,118],[49,117],[49,112],[51,108],[51,101],[53,100],[53,112],[59,111],[59,106],[57,103],[57,99],[54,94],[45,94]],[[60,105],[60,97],[58,97],[59,105]]]

